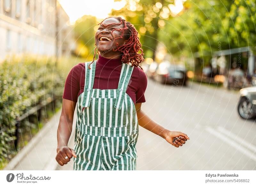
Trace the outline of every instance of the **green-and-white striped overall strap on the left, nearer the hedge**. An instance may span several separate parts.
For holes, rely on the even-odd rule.
[[[89,107],[92,97],[92,87],[94,83],[95,67],[96,61],[94,61],[88,68],[90,62],[85,62],[85,81],[84,81],[84,97],[82,102],[82,107]]]

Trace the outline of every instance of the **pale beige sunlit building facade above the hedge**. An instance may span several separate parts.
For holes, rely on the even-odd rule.
[[[0,61],[12,55],[56,56],[62,51],[59,27],[72,28],[67,15],[57,15],[64,11],[57,4],[56,0],[0,0]]]

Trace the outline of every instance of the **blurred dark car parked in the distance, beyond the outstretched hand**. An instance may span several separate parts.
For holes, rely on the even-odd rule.
[[[177,85],[187,85],[187,73],[185,67],[171,65],[169,62],[162,62],[159,64],[156,70],[157,76],[156,81],[163,84],[177,84]]]

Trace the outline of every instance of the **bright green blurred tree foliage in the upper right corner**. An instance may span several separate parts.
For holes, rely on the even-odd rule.
[[[256,43],[256,8],[253,1],[186,1],[185,10],[167,21],[164,31],[159,32],[159,40],[172,55],[211,56],[212,52]],[[207,57],[206,57],[207,58]],[[210,57],[211,58],[211,57]],[[208,58],[206,64],[209,62]]]

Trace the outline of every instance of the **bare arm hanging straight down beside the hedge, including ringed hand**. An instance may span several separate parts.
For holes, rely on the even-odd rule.
[[[68,140],[72,132],[72,124],[76,102],[63,99],[60,122],[57,131],[57,162],[62,166],[70,161],[72,156],[76,157],[75,151],[68,147]],[[68,157],[65,159],[65,157]]]

